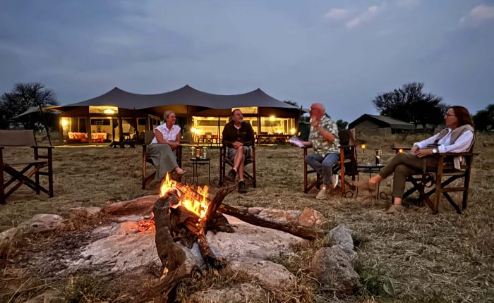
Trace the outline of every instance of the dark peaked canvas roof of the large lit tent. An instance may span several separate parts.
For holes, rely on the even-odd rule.
[[[163,107],[179,105],[198,106],[199,110],[200,108],[206,110],[257,106],[300,111],[298,107],[279,101],[261,89],[255,89],[245,94],[223,95],[201,92],[189,85],[162,94],[134,94],[115,87],[101,96],[73,104],[56,106],[56,109],[63,111],[71,106],[116,106],[123,109],[161,111]]]

